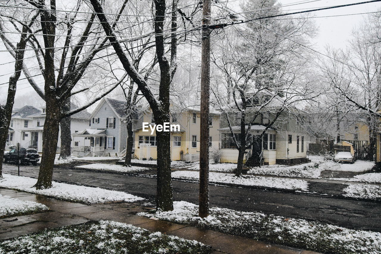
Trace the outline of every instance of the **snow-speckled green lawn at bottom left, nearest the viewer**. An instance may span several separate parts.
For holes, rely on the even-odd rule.
[[[208,254],[211,247],[197,241],[114,221],[88,222],[45,230],[0,242],[5,253],[190,253]]]

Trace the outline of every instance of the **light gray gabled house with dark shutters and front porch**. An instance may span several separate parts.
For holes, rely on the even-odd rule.
[[[88,128],[72,133],[75,156],[118,156],[126,153],[126,101],[102,98]]]

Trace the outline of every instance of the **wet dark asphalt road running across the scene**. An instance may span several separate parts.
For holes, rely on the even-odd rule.
[[[20,166],[22,176],[38,176],[38,166]],[[3,164],[3,172],[17,174],[17,166]],[[81,169],[54,169],[53,180],[126,191],[154,203],[156,179]],[[198,203],[199,185],[173,181],[174,201]],[[348,228],[381,232],[381,203],[354,201],[303,193],[249,190],[210,186],[211,206],[239,211],[263,212],[284,217],[306,218]]]

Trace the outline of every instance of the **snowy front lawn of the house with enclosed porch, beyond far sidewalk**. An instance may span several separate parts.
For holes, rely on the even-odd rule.
[[[318,178],[322,169],[314,162],[304,163],[295,166],[269,165],[253,167],[247,173],[258,175],[279,175],[286,177]]]

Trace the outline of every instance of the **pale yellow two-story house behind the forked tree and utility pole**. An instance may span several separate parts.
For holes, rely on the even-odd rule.
[[[200,156],[200,107],[192,106],[171,116],[171,124],[180,125],[180,130],[171,132],[171,160],[198,161]],[[210,147],[219,147],[219,116],[215,109],[210,109]],[[156,131],[143,131],[142,123],[155,125],[152,110],[144,113],[139,119],[140,126],[134,129],[134,156],[138,159],[157,159]]]

